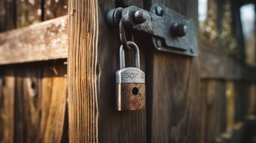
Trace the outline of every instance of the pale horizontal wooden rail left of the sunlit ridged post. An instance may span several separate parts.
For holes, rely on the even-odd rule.
[[[0,64],[67,58],[67,17],[0,33]]]

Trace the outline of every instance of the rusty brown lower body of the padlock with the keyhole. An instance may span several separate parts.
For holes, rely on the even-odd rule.
[[[119,90],[119,92],[116,91],[117,110],[140,110],[145,108],[145,84],[118,83],[116,84],[116,90]]]

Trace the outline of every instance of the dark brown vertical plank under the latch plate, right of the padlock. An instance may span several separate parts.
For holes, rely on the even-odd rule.
[[[152,3],[193,18],[198,26],[198,1]],[[159,51],[146,56],[147,142],[204,142],[198,59]]]

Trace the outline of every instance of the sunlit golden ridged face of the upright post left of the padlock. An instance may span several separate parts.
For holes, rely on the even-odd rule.
[[[98,142],[98,2],[69,1],[69,142]]]

